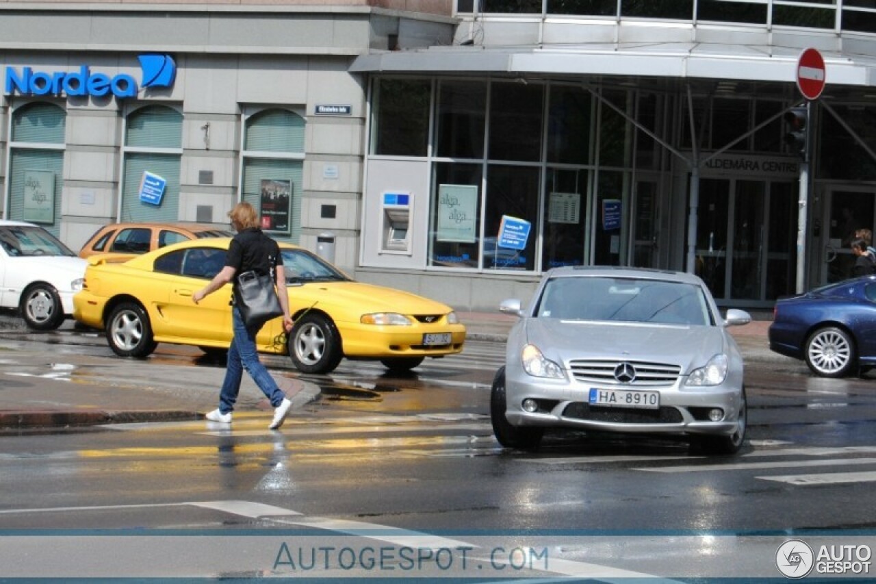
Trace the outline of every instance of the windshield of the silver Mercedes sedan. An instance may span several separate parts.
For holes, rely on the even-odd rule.
[[[566,320],[713,324],[699,287],[635,278],[555,278],[545,285],[536,314]]]

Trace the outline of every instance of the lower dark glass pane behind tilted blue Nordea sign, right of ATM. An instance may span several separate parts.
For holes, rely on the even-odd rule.
[[[484,213],[484,268],[535,269],[538,227],[539,169],[492,164],[487,170],[487,204]],[[530,223],[524,249],[500,246],[502,217]]]

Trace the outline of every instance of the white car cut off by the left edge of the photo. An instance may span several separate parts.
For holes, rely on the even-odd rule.
[[[32,329],[52,331],[73,316],[86,266],[39,225],[0,219],[0,308],[20,310]]]

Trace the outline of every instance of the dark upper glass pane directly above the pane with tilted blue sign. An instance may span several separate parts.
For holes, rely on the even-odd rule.
[[[491,160],[540,160],[543,95],[544,87],[534,83],[492,84]]]

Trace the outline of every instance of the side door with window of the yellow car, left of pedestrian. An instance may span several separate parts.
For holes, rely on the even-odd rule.
[[[155,260],[154,269],[165,278],[165,301],[159,307],[161,330],[168,340],[190,345],[202,341],[231,342],[231,285],[216,290],[200,303],[192,296],[204,288],[225,265],[224,249],[186,247],[165,253]]]

